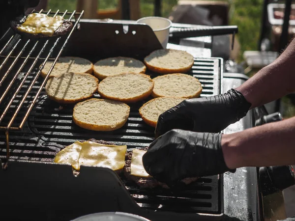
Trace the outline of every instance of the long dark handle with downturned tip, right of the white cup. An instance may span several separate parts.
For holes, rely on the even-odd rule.
[[[180,38],[202,37],[232,34],[232,49],[234,48],[235,34],[237,26],[200,26],[189,28],[170,28],[169,40],[179,40]]]

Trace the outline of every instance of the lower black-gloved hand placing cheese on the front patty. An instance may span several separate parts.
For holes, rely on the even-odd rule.
[[[169,186],[183,178],[229,171],[221,149],[221,136],[221,133],[171,130],[150,144],[143,156],[144,167],[148,174]]]

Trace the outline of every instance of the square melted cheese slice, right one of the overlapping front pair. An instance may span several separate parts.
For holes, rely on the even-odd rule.
[[[122,169],[125,165],[127,146],[105,145],[95,142],[84,142],[78,160],[78,168],[85,166],[107,167],[113,170]]]

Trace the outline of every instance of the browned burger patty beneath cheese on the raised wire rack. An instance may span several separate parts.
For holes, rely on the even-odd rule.
[[[44,34],[30,34],[27,32],[23,32],[18,30],[18,27],[23,24],[26,21],[27,17],[17,17],[16,19],[10,21],[10,27],[16,31],[17,33],[24,35],[24,36],[28,36],[28,37],[34,37],[34,38],[42,38],[42,37],[48,37],[47,35]],[[68,31],[70,31],[73,28],[73,23],[71,21],[67,21],[65,19],[62,20],[62,24],[61,26],[59,26],[59,28],[57,28],[54,32],[54,34],[51,36],[59,36],[59,35],[64,35],[66,34]]]

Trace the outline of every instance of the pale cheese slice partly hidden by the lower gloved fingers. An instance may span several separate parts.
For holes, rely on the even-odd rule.
[[[143,165],[143,155],[146,152],[147,151],[145,150],[138,150],[138,149],[132,150],[131,168],[130,168],[131,175],[140,176],[140,177],[150,177],[150,175],[147,173]]]

